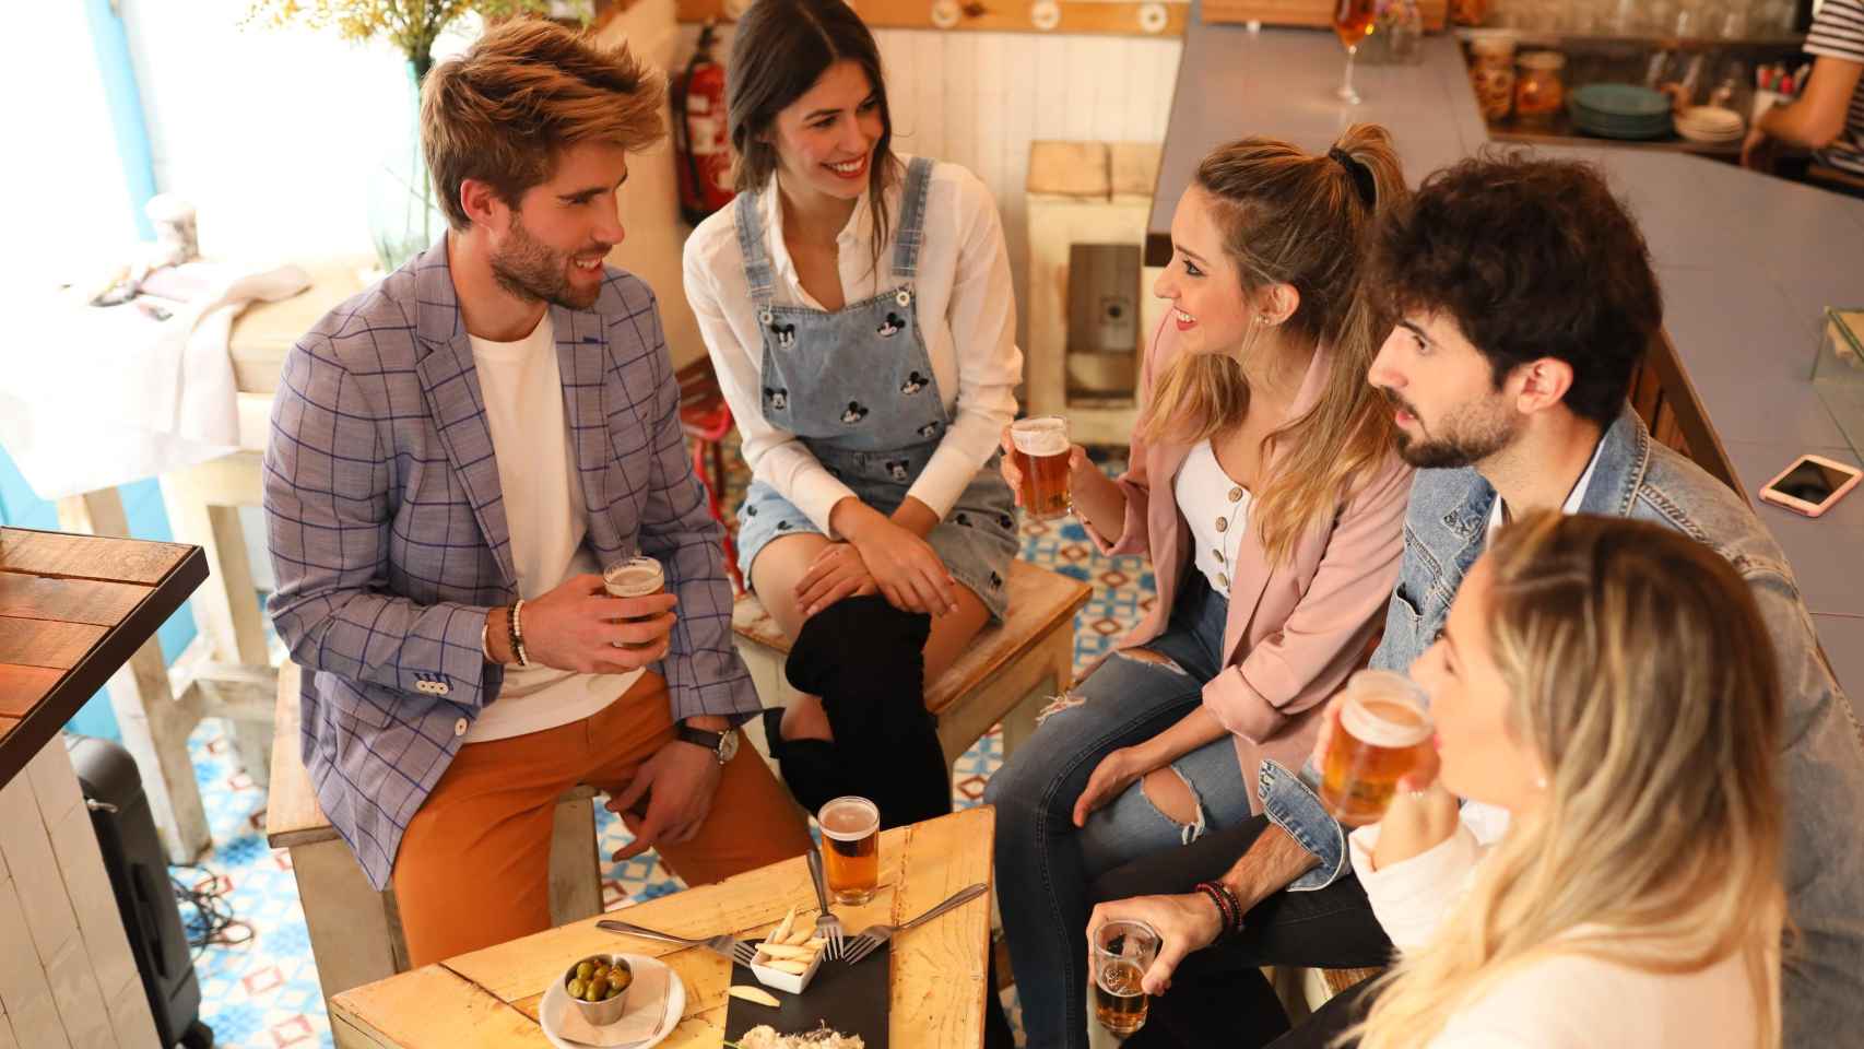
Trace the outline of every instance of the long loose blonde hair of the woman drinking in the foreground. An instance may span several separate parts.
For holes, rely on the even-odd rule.
[[[1754,596],[1709,548],[1622,518],[1532,514],[1487,559],[1504,725],[1540,755],[1547,805],[1381,980],[1359,1045],[1422,1045],[1556,954],[1646,973],[1739,954],[1776,1047],[1780,684]]]

